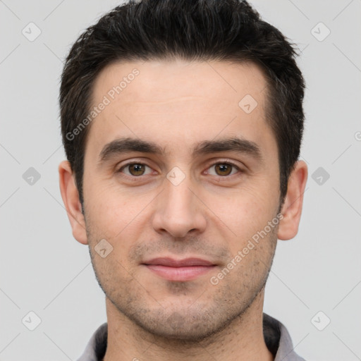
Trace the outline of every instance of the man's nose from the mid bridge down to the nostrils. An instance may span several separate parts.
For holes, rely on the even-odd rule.
[[[155,231],[169,233],[174,238],[204,231],[207,224],[205,209],[195,189],[187,178],[179,185],[165,180],[165,188],[157,200],[152,219]]]

